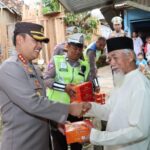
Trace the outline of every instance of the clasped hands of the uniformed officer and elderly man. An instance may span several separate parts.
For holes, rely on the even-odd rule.
[[[88,102],[73,102],[69,105],[69,114],[77,117],[82,117],[91,109],[92,105]]]

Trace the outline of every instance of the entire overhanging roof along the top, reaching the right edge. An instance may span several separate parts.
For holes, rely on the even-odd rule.
[[[59,0],[68,10],[74,13],[100,8],[105,6],[135,7],[145,11],[150,11],[150,0]],[[121,5],[119,5],[121,4]],[[120,7],[120,8],[121,8]],[[118,7],[116,7],[118,8]]]

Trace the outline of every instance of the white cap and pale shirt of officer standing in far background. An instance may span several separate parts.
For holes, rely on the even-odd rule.
[[[118,24],[122,26],[122,18],[119,16],[113,17],[111,22],[113,23],[113,25]],[[120,29],[119,32],[116,32],[115,30],[110,34],[109,38],[113,38],[113,37],[124,37],[126,36],[125,32]]]

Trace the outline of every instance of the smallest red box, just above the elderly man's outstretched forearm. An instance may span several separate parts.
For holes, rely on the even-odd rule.
[[[106,94],[105,93],[94,93],[95,102],[105,104]]]

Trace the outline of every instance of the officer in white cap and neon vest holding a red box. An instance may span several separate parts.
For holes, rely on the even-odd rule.
[[[80,59],[84,46],[83,35],[72,35],[67,42],[67,55],[55,55],[53,57],[44,74],[44,80],[48,87],[47,96],[49,99],[69,104],[70,97],[75,94],[74,85],[88,81],[90,66],[87,61]],[[82,120],[82,118],[69,116],[68,120],[74,122]],[[54,147],[57,150],[67,150],[65,136],[56,128],[52,130],[52,134]],[[81,149],[81,144],[71,144],[71,150]]]

